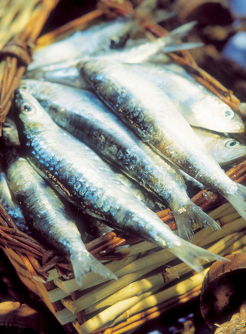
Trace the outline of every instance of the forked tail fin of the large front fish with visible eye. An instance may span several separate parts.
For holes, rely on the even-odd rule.
[[[179,241],[176,241],[175,245],[169,246],[168,250],[198,273],[203,270],[200,264],[202,261],[228,261],[217,254],[213,254],[183,239],[179,239]]]

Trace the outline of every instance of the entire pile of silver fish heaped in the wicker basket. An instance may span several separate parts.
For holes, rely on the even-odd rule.
[[[164,52],[200,46],[178,41],[194,23],[152,42],[129,38],[137,25],[116,19],[35,52],[15,94],[17,129],[3,125],[1,203],[22,231],[70,257],[78,284],[91,270],[117,277],[87,252],[71,207],[90,217],[94,237],[107,225],[196,271],[199,260],[221,258],[189,242],[194,223],[220,226],[190,200],[182,175],[246,219],[246,188],[219,166],[244,159],[246,146],[233,137],[243,122],[183,68],[163,63]],[[164,205],[179,236],[155,214]]]

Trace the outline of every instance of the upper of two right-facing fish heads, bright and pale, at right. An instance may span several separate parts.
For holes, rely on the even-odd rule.
[[[195,105],[195,109],[195,118],[199,118],[202,124],[196,126],[216,132],[245,132],[240,116],[216,96],[207,95]]]

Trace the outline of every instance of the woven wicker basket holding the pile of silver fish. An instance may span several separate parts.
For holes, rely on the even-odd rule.
[[[32,60],[32,48],[36,39],[58,0],[43,0],[38,5],[37,2],[33,1],[33,8],[29,8],[30,20],[23,30],[14,36],[8,36],[8,39],[13,38],[5,46],[1,46],[1,123],[5,121],[10,109],[14,90],[18,87],[26,66]],[[42,36],[37,44],[49,43],[61,34],[89,24],[93,19],[104,18],[106,15],[113,18],[129,13],[140,15],[134,13],[128,1],[121,4],[101,1],[97,9]],[[150,22],[144,15],[140,18],[145,31],[152,37],[166,34],[165,29]],[[184,66],[198,82],[240,112],[240,101],[231,91],[199,68],[188,51],[170,53],[169,56]],[[243,183],[246,181],[245,171],[246,160],[231,168],[226,174],[232,180]],[[198,230],[193,238],[195,244],[209,244],[210,251],[223,256],[233,251],[244,251],[245,220],[225,199],[204,189],[194,196],[192,201],[221,225],[220,231]],[[169,209],[160,211],[157,215],[172,230],[176,230]],[[207,268],[200,274],[194,274],[184,263],[178,264],[167,250],[157,251],[158,248],[149,242],[113,231],[93,240],[86,247],[97,259],[107,262],[107,267],[115,272],[119,280],[105,282],[103,278],[91,272],[85,275],[83,287],[79,287],[69,260],[20,232],[1,204],[0,234],[0,246],[21,281],[41,297],[68,333],[77,330],[79,333],[119,334],[137,328],[166,310],[197,298],[208,270]],[[118,249],[123,245],[127,247]],[[170,261],[174,269],[163,267]],[[208,267],[205,262],[203,265]],[[179,280],[177,272],[180,275]],[[184,274],[185,280],[182,279]],[[143,275],[147,278],[141,279]],[[173,285],[166,289],[165,285],[172,281]]]

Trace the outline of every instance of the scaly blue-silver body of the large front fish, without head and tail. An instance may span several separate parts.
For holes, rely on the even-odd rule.
[[[43,120],[44,116],[41,117]],[[175,234],[119,181],[96,153],[52,124],[51,119],[50,123],[45,130],[40,125],[40,131],[35,124],[33,133],[27,126],[26,143],[23,144],[30,162],[60,193],[114,228],[161,246],[179,243]],[[37,142],[44,145],[38,146]],[[40,156],[46,156],[43,163]]]

